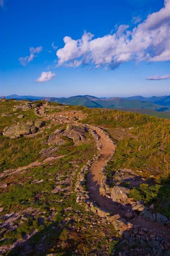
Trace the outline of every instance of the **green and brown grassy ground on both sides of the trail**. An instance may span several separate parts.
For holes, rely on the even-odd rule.
[[[89,96],[85,100],[90,100]],[[75,120],[76,125],[82,122],[107,130],[117,144],[107,166],[108,181],[113,181],[119,169],[132,170],[145,185],[135,187],[130,195],[144,200],[148,206],[154,203],[155,211],[166,216],[170,216],[170,121],[114,109],[64,106],[55,102],[47,106],[43,101],[37,102],[51,114],[48,119],[37,116],[34,109],[14,108],[25,103],[0,101],[0,132],[16,123],[45,122],[37,133],[21,138],[9,139],[0,133],[0,246],[4,255],[110,256],[113,250],[119,255],[138,248],[138,244],[124,247],[124,239],[113,225],[76,202],[77,174],[97,153],[95,140],[86,133],[86,139],[79,145],[66,137],[62,145],[49,144],[49,136],[67,126],[52,116],[55,112],[63,118],[71,117],[69,113],[73,117],[82,115],[84,119]],[[25,117],[19,118],[22,114]],[[44,162],[47,158],[50,162]],[[27,166],[33,162],[35,166]],[[22,166],[27,167],[18,169]],[[83,185],[86,190],[86,184]]]

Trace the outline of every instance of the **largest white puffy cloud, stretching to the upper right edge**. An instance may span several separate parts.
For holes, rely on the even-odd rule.
[[[170,60],[170,0],[158,12],[149,14],[133,30],[122,24],[113,34],[94,38],[84,32],[80,39],[63,38],[65,46],[57,50],[58,64],[77,67],[93,64],[95,68],[115,69],[121,63],[133,60]]]

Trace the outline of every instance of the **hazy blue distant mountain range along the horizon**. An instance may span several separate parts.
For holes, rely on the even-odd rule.
[[[31,95],[9,95],[5,97],[6,99],[18,99],[18,100],[45,100],[49,102],[58,102],[61,104],[69,105],[82,105],[90,108],[126,108],[126,109],[151,109],[158,112],[170,112],[170,95],[167,96],[152,96],[150,98],[145,98],[143,96],[132,96],[128,98],[97,98],[91,95],[77,95],[71,96],[69,98],[54,98],[54,97],[38,97]]]

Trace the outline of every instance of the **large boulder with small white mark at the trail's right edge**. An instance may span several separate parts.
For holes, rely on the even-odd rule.
[[[128,194],[130,192],[129,188],[125,188],[125,187],[121,187],[118,185],[115,185],[112,189],[111,189],[111,198],[114,202],[117,202],[119,200],[123,200],[126,201],[128,198]]]

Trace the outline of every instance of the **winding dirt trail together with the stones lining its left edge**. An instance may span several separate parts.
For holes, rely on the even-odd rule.
[[[123,206],[120,203],[113,202],[111,198],[102,196],[100,194],[99,189],[101,188],[101,170],[107,165],[108,160],[113,156],[116,148],[116,145],[112,142],[107,133],[93,125],[86,125],[77,121],[70,121],[65,117],[58,118],[58,113],[53,113],[53,116],[51,116],[50,114],[46,114],[43,106],[37,109],[37,114],[39,116],[43,116],[44,118],[46,118],[46,120],[51,119],[55,122],[70,123],[75,126],[87,127],[91,135],[96,140],[99,154],[97,156],[94,156],[92,160],[88,161],[88,163],[86,163],[85,166],[82,167],[81,172],[77,176],[78,180],[75,187],[75,191],[78,195],[77,203],[85,203],[87,210],[96,212],[99,216],[105,214],[105,217],[108,221],[110,221],[109,218],[114,219],[114,216],[119,216],[119,219],[117,217],[117,219],[115,218],[115,220],[113,221],[113,226],[115,224],[115,221],[118,221],[118,223],[120,223],[120,226],[122,225],[123,228],[126,226],[126,228],[124,228],[123,230],[127,230],[131,226],[137,224],[140,225],[142,228],[152,230],[155,234],[161,235],[170,242],[170,232],[167,227],[162,226],[159,223],[153,223],[151,221],[143,219],[141,215],[134,217],[132,220],[128,220],[128,222],[126,222],[127,219],[125,220],[121,217],[124,217],[124,214],[126,214],[127,211],[132,212],[131,206]],[[82,185],[84,185],[85,183],[88,191],[84,191],[82,188]]]

